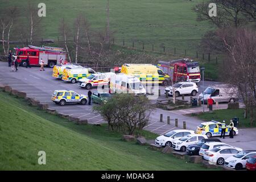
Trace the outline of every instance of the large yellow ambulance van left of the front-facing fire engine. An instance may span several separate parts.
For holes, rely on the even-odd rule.
[[[167,86],[170,76],[152,64],[123,64],[121,73],[139,78],[144,84],[162,84]]]

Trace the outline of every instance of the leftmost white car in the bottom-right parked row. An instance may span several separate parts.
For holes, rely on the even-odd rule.
[[[155,139],[155,144],[159,146],[170,146],[172,147],[172,142],[175,139],[180,139],[189,134],[194,134],[195,131],[192,130],[172,130],[164,135],[159,136]]]

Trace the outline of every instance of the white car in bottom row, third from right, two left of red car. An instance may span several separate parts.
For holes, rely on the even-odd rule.
[[[233,147],[221,146],[213,148],[206,153],[209,156],[209,164],[222,165],[224,164],[225,159],[237,154],[238,152],[239,151]]]

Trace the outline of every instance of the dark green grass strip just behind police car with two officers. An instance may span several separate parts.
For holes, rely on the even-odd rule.
[[[238,127],[250,127],[250,119],[249,117],[244,118],[244,109],[220,109],[220,110],[214,110],[212,113],[200,113],[200,114],[192,114],[193,116],[196,116],[200,119],[204,119],[205,121],[210,120],[216,120],[216,121],[227,121],[229,123],[229,120],[238,117],[239,123]],[[254,121],[254,127],[256,127],[256,122]]]

